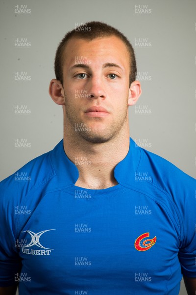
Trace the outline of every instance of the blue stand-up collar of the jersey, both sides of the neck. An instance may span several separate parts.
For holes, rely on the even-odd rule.
[[[114,177],[119,184],[130,184],[137,171],[141,158],[141,150],[130,138],[129,150],[125,158],[114,169]],[[58,183],[74,185],[79,177],[77,166],[68,158],[63,148],[63,140],[51,151],[51,161],[55,169]]]

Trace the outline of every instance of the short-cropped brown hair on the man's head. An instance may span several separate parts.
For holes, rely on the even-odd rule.
[[[56,79],[63,84],[63,53],[65,51],[65,47],[68,41],[73,38],[82,38],[93,40],[99,37],[108,37],[108,36],[116,36],[120,38],[125,44],[127,51],[130,57],[130,74],[129,74],[129,86],[136,79],[137,74],[137,66],[134,49],[129,42],[129,40],[121,33],[118,29],[115,29],[112,26],[109,26],[102,22],[88,22],[86,24],[82,24],[79,27],[69,31],[65,37],[59,43],[59,46],[56,50],[56,56],[54,61],[54,71],[56,75]]]

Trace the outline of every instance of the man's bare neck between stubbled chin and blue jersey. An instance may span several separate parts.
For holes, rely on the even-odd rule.
[[[103,189],[118,182],[114,178],[114,168],[129,150],[129,128],[104,143],[92,143],[82,136],[71,136],[69,128],[64,132],[64,150],[77,166],[79,177],[76,186]]]

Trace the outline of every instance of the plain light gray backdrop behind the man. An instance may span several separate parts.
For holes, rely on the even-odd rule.
[[[22,4],[30,13],[15,13]],[[135,5],[147,5],[147,13],[137,13]],[[0,0],[0,179],[62,139],[62,109],[48,94],[55,51],[75,23],[93,20],[120,29],[136,52],[143,76],[138,107],[148,114],[129,108],[130,136],[196,177],[195,12],[195,0]],[[15,38],[27,38],[30,46],[15,47]],[[139,38],[147,45],[136,46]],[[30,81],[15,81],[17,71]],[[30,114],[15,114],[15,105]],[[15,148],[15,139],[31,147]],[[183,285],[180,294],[186,294]]]

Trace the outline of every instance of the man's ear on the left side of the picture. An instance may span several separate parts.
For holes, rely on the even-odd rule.
[[[64,90],[60,81],[52,79],[49,84],[49,95],[52,100],[58,105],[64,105]]]

